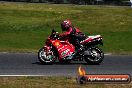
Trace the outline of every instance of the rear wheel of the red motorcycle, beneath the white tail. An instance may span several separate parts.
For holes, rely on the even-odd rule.
[[[100,64],[104,59],[104,53],[99,47],[91,47],[88,49],[89,55],[84,56],[88,64]]]

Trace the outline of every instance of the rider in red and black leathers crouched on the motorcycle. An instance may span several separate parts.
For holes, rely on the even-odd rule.
[[[75,28],[70,20],[62,21],[61,28],[62,31],[66,32],[60,34],[60,36],[73,44],[76,50],[80,49],[82,47],[80,41],[84,40],[86,36],[78,28]]]

